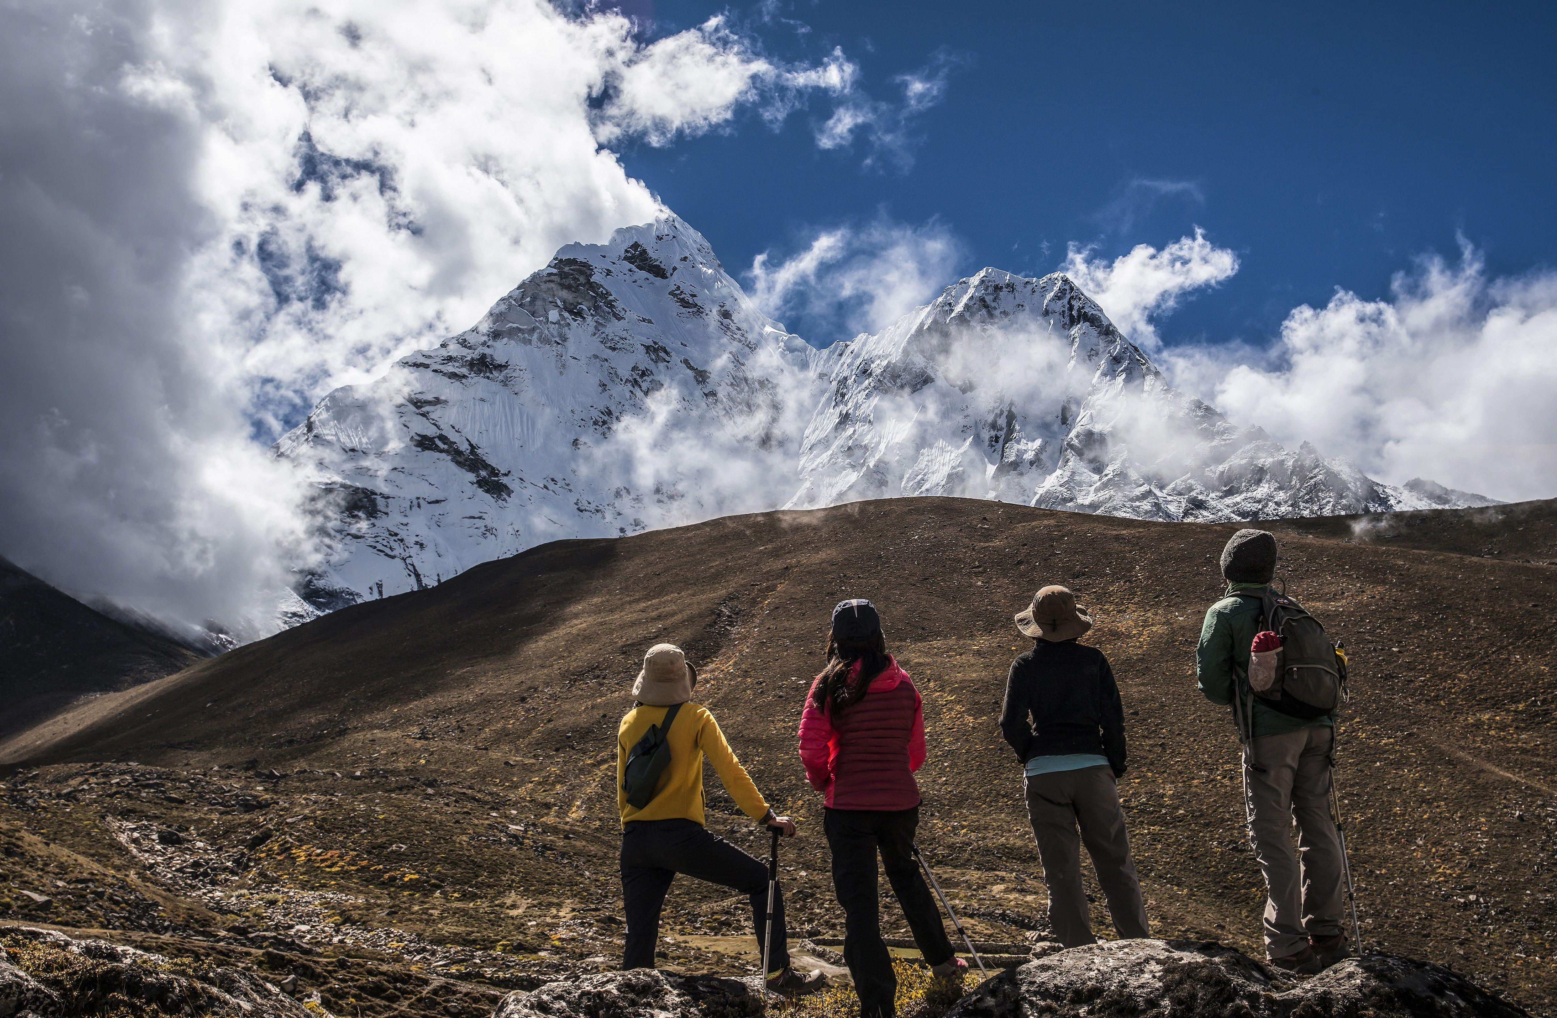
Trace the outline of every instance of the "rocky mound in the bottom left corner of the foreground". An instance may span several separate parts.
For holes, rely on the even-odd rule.
[[[321,1018],[258,976],[201,968],[53,929],[9,928],[0,948],[0,1018],[83,1013]],[[187,959],[185,959],[187,960]]]

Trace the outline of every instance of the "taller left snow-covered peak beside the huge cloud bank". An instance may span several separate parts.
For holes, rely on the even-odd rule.
[[[322,478],[327,565],[304,596],[333,609],[559,537],[772,507],[819,356],[676,216],[570,244],[277,442]]]

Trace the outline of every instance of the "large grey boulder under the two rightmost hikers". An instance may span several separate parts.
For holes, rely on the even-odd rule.
[[[1216,943],[1116,940],[1003,973],[947,1018],[1529,1018],[1428,962],[1370,954],[1299,979]]]

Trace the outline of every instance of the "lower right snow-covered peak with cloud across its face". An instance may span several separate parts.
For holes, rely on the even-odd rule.
[[[789,507],[965,495],[1146,520],[1389,512],[1398,489],[1176,392],[1068,277],[984,269],[828,349]],[[1436,486],[1434,486],[1436,487]],[[1459,504],[1459,503],[1456,503]]]

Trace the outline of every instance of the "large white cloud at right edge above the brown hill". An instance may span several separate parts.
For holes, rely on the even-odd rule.
[[[1299,307],[1264,363],[1249,353],[1172,350],[1168,366],[1233,420],[1384,481],[1557,497],[1557,272],[1487,279],[1464,246],[1459,265],[1397,274],[1386,300]]]

